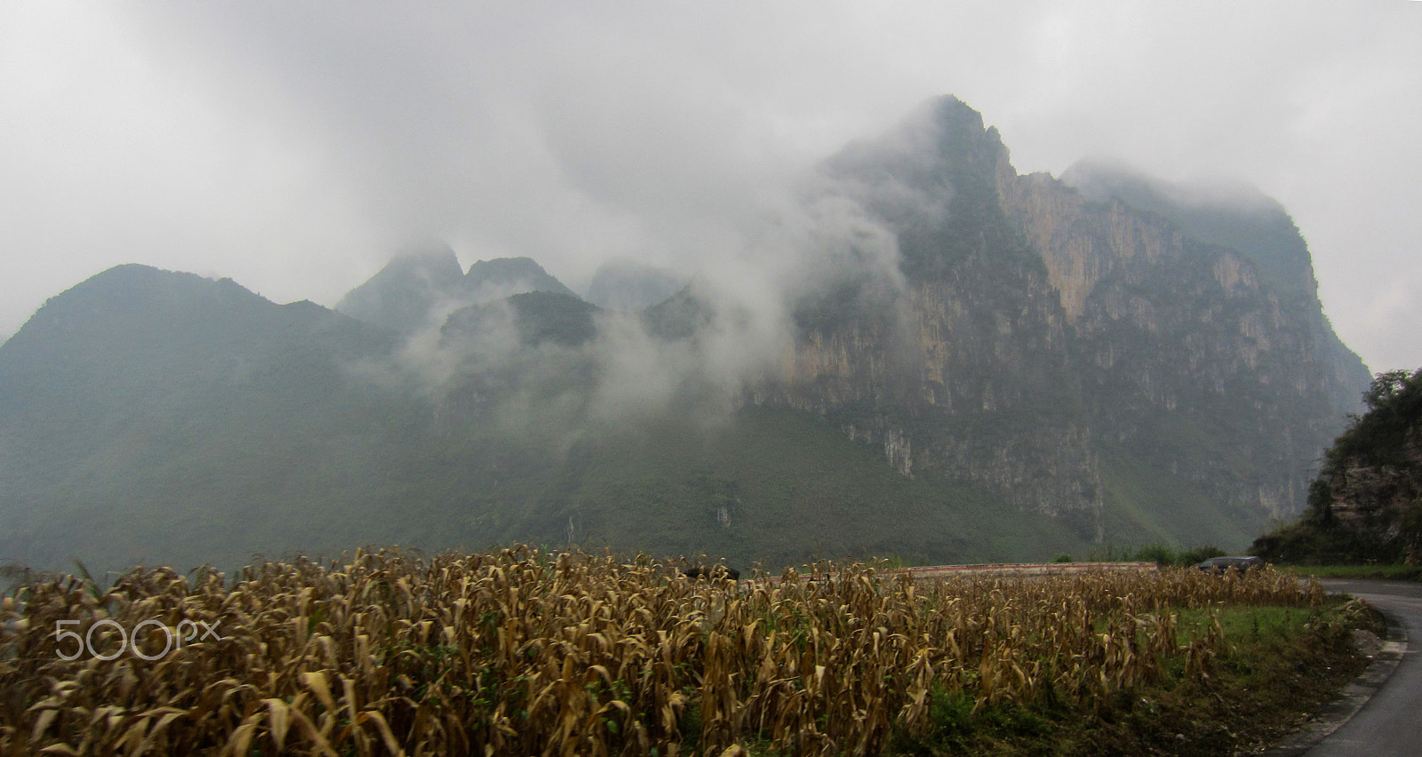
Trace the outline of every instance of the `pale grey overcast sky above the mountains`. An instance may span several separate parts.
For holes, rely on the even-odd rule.
[[[112,265],[334,305],[400,246],[694,270],[956,94],[1020,172],[1237,176],[1422,366],[1422,3],[0,3],[0,339]]]

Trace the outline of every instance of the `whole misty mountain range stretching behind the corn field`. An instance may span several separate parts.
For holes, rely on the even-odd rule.
[[[754,279],[616,260],[579,297],[427,243],[331,310],[105,270],[0,346],[0,558],[1236,549],[1371,380],[1247,186],[1020,175],[944,97],[793,192]]]

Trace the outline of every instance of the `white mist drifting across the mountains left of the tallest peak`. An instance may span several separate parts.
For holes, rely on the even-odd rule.
[[[933,144],[930,135],[902,158],[929,161]],[[415,387],[447,427],[512,433],[553,451],[587,434],[636,431],[668,418],[714,430],[741,407],[748,388],[786,377],[801,329],[796,314],[806,302],[848,286],[903,307],[896,231],[870,209],[875,202],[929,208],[941,199],[848,181],[823,165],[808,169],[774,195],[762,192],[745,225],[727,228],[727,249],[701,259],[684,287],[636,310],[574,300],[556,282],[536,280],[536,272],[471,285],[492,263],[459,262],[456,273],[451,246],[410,248],[375,280],[412,287],[424,312],[388,359],[365,359],[353,370],[380,384]],[[616,270],[653,270],[673,280],[671,272],[626,260],[600,269],[604,282]],[[465,268],[462,283],[451,283]],[[357,290],[341,307],[371,319],[380,296]],[[565,320],[542,323],[549,309]],[[569,313],[576,323],[566,320]]]

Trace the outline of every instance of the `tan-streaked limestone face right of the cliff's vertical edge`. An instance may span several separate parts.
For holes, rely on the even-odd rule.
[[[1331,353],[1337,337],[1317,299],[1281,297],[1246,252],[1202,243],[1159,215],[1088,202],[1048,176],[1004,169],[1000,179],[1008,213],[1057,272],[1098,434],[1149,445],[1169,435],[1162,425],[1213,430],[1210,458],[1185,471],[1180,460],[1158,462],[1236,507],[1298,512],[1307,471],[1367,380],[1357,357],[1340,366]]]

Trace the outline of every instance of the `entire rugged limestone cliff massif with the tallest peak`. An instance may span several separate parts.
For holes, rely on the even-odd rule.
[[[1221,518],[1303,507],[1352,410],[1341,398],[1367,386],[1317,296],[1271,286],[1250,250],[1160,212],[1018,175],[953,98],[826,172],[897,233],[897,307],[802,313],[782,381],[758,401],[829,417],[906,475],[970,478],[1098,538],[1106,505],[1173,501],[1172,487]]]

